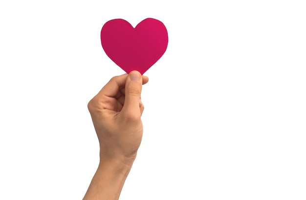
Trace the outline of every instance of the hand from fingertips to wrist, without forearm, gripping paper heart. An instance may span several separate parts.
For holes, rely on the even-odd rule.
[[[132,162],[142,139],[142,84],[137,71],[113,77],[88,103],[100,143],[100,160]]]

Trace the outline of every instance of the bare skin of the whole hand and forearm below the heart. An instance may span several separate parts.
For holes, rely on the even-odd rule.
[[[100,163],[83,200],[118,200],[140,146],[142,85],[137,71],[113,77],[88,102],[100,144]]]

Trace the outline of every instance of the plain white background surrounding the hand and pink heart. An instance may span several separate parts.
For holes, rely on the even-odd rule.
[[[100,31],[168,29],[145,75],[122,200],[306,199],[303,0],[0,2],[0,199],[81,200],[98,165],[87,102],[124,71]]]

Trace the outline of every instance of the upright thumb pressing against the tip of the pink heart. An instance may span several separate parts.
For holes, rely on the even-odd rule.
[[[126,117],[139,119],[141,111],[139,107],[142,88],[142,76],[138,71],[131,71],[125,85],[125,101],[122,108]]]

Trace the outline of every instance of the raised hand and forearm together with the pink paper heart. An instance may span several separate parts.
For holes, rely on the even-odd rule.
[[[113,77],[88,103],[100,143],[100,163],[83,200],[119,199],[142,140],[141,89],[149,81],[142,74],[165,53],[168,33],[161,21],[152,18],[135,28],[116,19],[102,27],[101,43],[128,74]]]

